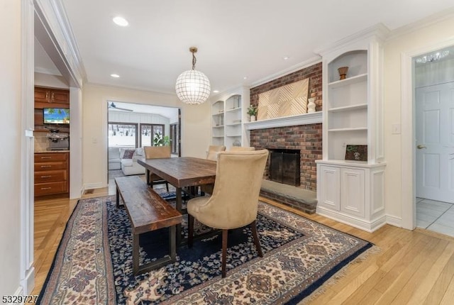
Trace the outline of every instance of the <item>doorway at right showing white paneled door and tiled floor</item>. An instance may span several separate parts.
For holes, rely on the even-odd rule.
[[[450,236],[454,236],[453,49],[414,60],[416,226]]]

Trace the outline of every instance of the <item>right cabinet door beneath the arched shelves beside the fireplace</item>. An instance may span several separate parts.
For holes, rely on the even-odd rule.
[[[364,170],[341,168],[341,211],[365,216]]]

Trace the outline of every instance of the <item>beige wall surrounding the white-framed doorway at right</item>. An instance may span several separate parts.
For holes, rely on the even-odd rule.
[[[402,182],[412,172],[402,172],[402,135],[391,133],[392,124],[402,123],[402,53],[417,53],[454,39],[454,16],[387,40],[384,48],[384,144],[386,167],[386,211],[402,218]],[[409,74],[411,75],[411,74]],[[402,126],[404,128],[405,126]],[[405,211],[404,207],[404,211]],[[405,212],[404,212],[405,213]]]

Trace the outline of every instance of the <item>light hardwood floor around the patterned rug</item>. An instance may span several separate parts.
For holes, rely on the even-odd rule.
[[[83,198],[114,194],[96,189]],[[263,201],[276,204],[273,201]],[[76,200],[35,201],[35,289],[39,294]],[[377,245],[380,251],[350,264],[304,304],[453,304],[454,238],[421,229],[384,226],[367,233],[319,215],[294,211]]]

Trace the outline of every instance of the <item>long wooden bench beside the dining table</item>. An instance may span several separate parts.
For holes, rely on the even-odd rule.
[[[182,223],[182,214],[162,199],[138,176],[115,178],[116,206],[120,196],[133,228],[133,273],[140,275],[175,262],[176,226]],[[169,255],[159,260],[139,265],[139,235],[159,228],[169,228]]]

